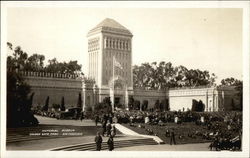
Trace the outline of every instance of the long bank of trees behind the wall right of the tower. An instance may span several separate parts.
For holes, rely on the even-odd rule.
[[[135,88],[166,89],[172,87],[210,86],[215,83],[215,74],[199,69],[174,67],[171,62],[143,63],[133,67]]]

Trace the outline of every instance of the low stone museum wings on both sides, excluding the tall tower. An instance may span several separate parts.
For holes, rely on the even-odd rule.
[[[110,96],[110,89],[99,89],[93,80],[83,79],[76,75],[63,75],[52,73],[21,72],[25,81],[35,93],[33,105],[43,106],[49,96],[49,105],[61,104],[64,97],[65,106],[75,107],[79,93],[81,93],[83,107],[93,106]],[[192,100],[202,101],[205,111],[232,110],[239,107],[240,99],[234,87],[196,87],[169,90],[143,90],[129,89],[128,96],[142,104],[148,101],[148,108],[153,108],[157,100],[168,100],[170,110],[187,110],[192,108]],[[125,91],[115,92],[121,96],[122,104],[125,103]]]

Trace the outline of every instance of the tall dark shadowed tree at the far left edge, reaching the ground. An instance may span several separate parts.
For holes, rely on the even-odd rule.
[[[13,51],[12,44],[7,43]],[[30,86],[25,83],[19,71],[25,65],[27,54],[21,47],[16,47],[12,56],[7,57],[7,127],[37,125],[38,121],[31,112],[32,94]]]

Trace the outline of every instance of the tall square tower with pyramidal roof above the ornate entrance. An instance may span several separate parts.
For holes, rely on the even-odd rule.
[[[132,33],[113,19],[104,19],[88,32],[88,76],[95,80],[99,101],[114,96],[125,104],[125,91],[133,91]],[[116,67],[117,64],[119,68]]]

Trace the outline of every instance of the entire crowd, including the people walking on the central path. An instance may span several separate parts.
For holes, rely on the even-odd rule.
[[[56,117],[54,113],[44,112],[38,113],[46,117]],[[83,120],[84,116],[79,115],[79,119]],[[193,122],[198,126],[204,126],[205,132],[196,131],[188,133],[187,136],[178,135],[178,139],[189,137],[195,139],[202,137],[202,139],[209,140],[210,150],[241,150],[241,136],[242,136],[242,113],[241,112],[192,112],[192,111],[139,111],[139,110],[118,110],[114,113],[95,114],[92,115],[95,125],[101,124],[101,131],[98,135],[100,137],[109,137],[108,142],[110,150],[114,148],[114,137],[116,135],[116,128],[113,123],[129,124],[144,128],[146,134],[155,135],[153,129],[145,128],[145,125],[152,126],[168,126],[168,123],[182,124],[185,122]],[[174,129],[166,128],[165,137],[168,137],[169,144],[176,144],[176,135]],[[97,140],[96,140],[97,139]],[[98,144],[97,149],[100,148],[101,139],[98,137],[95,142]]]

